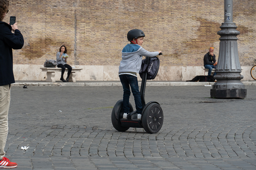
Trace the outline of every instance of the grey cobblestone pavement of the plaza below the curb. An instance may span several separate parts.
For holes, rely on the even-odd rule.
[[[164,112],[149,134],[112,126],[120,86],[11,87],[6,157],[20,170],[255,170],[255,88],[245,99],[212,99],[211,87],[149,86],[146,102]]]

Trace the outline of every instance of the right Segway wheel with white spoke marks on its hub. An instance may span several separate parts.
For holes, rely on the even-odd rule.
[[[157,133],[164,122],[163,110],[157,103],[150,103],[142,113],[142,126],[148,133]]]

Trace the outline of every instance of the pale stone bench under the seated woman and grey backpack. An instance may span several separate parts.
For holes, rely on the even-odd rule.
[[[61,72],[62,68],[51,68],[51,67],[40,67],[42,71],[46,71],[46,81],[47,82],[55,82],[55,72]],[[75,74],[76,72],[81,72],[82,68],[72,68],[71,74],[69,76],[68,81],[69,82],[76,82],[75,80]],[[68,69],[66,68],[65,72],[68,72]],[[59,78],[58,78],[59,79]]]

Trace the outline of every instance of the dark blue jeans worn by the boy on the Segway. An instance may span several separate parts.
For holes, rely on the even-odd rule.
[[[138,114],[142,113],[142,104],[141,104],[141,96],[139,92],[139,85],[137,77],[129,74],[122,74],[119,76],[120,81],[123,86],[124,95],[123,95],[123,111],[124,113],[130,113],[129,107],[129,98],[131,95],[130,86],[132,89],[132,94],[134,96],[136,112]],[[130,86],[129,86],[130,85]]]

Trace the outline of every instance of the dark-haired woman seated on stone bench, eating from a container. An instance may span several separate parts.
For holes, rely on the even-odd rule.
[[[67,57],[65,56],[68,56],[68,55],[66,53],[67,53],[67,48],[65,45],[62,45],[60,47],[60,51],[57,52],[57,55],[56,55],[57,67],[62,68],[60,80],[62,80],[63,82],[68,82],[69,75],[71,74],[71,71],[72,71],[72,67],[67,64]],[[65,80],[63,78],[63,75],[66,68],[68,68],[68,77]]]

